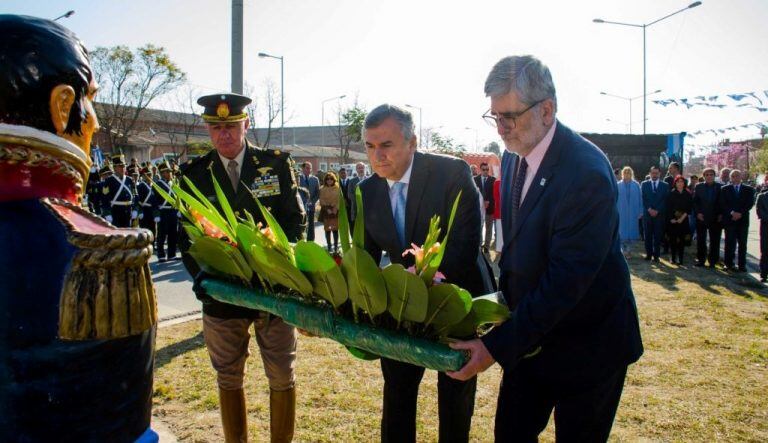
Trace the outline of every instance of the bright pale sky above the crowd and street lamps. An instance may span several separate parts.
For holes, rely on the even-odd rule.
[[[678,0],[244,0],[244,78],[257,104],[264,84],[279,87],[284,57],[286,126],[336,123],[355,102],[409,104],[416,125],[473,149],[500,141],[481,116],[483,84],[508,55],[533,54],[557,88],[558,118],[581,132],[626,133],[630,101],[643,94],[641,28],[685,8]],[[88,48],[152,43],[166,48],[201,93],[231,89],[228,0],[0,0],[0,13],[54,18]],[[654,99],[721,97],[768,90],[768,0],[703,0],[647,27],[647,133],[667,134],[768,123],[751,108],[660,106]],[[762,95],[765,106],[768,97]],[[722,100],[721,103],[733,103]],[[158,102],[161,107],[164,102]],[[642,133],[642,97],[631,101],[632,132]],[[421,115],[419,115],[421,113]],[[418,128],[417,128],[418,129]],[[752,127],[686,139],[690,147],[722,138],[758,138]]]

